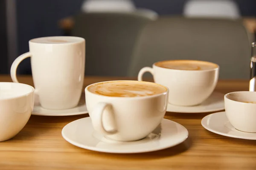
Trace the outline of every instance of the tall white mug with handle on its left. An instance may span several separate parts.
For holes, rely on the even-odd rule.
[[[80,37],[41,37],[29,40],[29,52],[12,63],[18,82],[19,63],[31,57],[35,94],[43,108],[62,110],[79,103],[84,83],[85,40]]]

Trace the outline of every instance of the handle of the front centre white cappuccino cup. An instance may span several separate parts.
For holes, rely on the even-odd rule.
[[[109,119],[108,122],[113,130],[106,130],[105,127],[103,126],[103,122],[105,122],[105,120],[102,119],[102,116],[103,116],[103,112],[106,109],[108,109],[108,111],[110,111],[111,114],[113,115],[113,110],[112,110],[111,104],[108,104],[105,102],[99,102],[93,110],[92,115],[93,115],[94,119],[92,119],[92,123],[93,123],[95,130],[100,131],[100,132],[104,133],[105,135],[113,135],[113,134],[117,133],[117,130],[116,130],[116,125],[115,125],[115,120],[112,116],[108,116],[108,119]]]

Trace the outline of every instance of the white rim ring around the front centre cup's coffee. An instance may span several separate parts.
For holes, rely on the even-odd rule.
[[[107,83],[107,82],[144,82],[144,83],[152,83],[152,84],[156,84],[156,85],[159,85],[159,86],[162,86],[162,87],[166,88],[166,91],[164,91],[163,93],[154,94],[154,95],[151,95],[151,96],[118,97],[118,96],[104,96],[104,95],[100,95],[100,94],[95,94],[95,93],[90,92],[88,90],[88,88],[90,88],[90,86],[93,86],[93,85],[96,85],[96,84],[99,84],[99,83]],[[169,92],[169,88],[167,88],[165,85],[160,85],[160,84],[157,84],[155,82],[145,82],[145,81],[137,81],[137,80],[111,80],[111,81],[105,81],[105,82],[96,82],[96,83],[87,85],[87,87],[84,90],[87,93],[90,93],[90,94],[93,94],[93,95],[96,95],[96,96],[102,96],[102,97],[107,97],[107,98],[111,98],[111,99],[120,99],[120,100],[121,99],[125,99],[125,100],[128,100],[128,99],[131,99],[131,100],[132,99],[150,99],[150,98],[154,98],[154,97],[157,97],[157,96],[168,94],[168,92]]]

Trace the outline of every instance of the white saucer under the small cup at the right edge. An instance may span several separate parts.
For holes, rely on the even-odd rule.
[[[225,112],[209,114],[202,119],[201,124],[207,130],[219,135],[239,139],[256,140],[256,133],[247,133],[236,130],[228,121]]]

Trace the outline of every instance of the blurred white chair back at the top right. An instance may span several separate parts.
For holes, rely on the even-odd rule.
[[[183,14],[186,17],[237,19],[240,17],[240,10],[233,0],[188,0]]]

